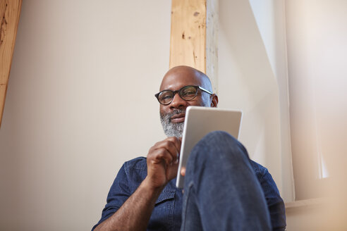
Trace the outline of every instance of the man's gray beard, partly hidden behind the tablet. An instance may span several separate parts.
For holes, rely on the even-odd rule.
[[[178,109],[168,114],[160,113],[160,122],[162,123],[164,133],[167,137],[182,137],[184,122],[171,123],[171,117],[180,113],[185,113],[185,109]]]

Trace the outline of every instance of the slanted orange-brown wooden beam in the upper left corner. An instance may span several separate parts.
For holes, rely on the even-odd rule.
[[[0,127],[22,0],[0,0]]]

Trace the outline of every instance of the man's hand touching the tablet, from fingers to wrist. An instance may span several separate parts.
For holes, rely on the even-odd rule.
[[[169,137],[157,142],[147,155],[146,181],[150,187],[161,188],[177,175],[181,138]]]

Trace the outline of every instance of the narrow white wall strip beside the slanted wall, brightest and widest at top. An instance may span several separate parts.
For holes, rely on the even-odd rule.
[[[276,78],[279,98],[279,135],[282,196],[285,201],[295,197],[291,156],[291,130],[288,98],[288,67],[286,46],[286,14],[284,0],[250,0],[255,21],[267,51],[272,73]]]

